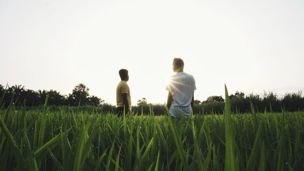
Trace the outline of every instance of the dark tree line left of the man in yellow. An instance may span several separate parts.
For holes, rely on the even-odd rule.
[[[60,94],[56,90],[38,90],[25,89],[22,85],[3,86],[0,84],[0,100],[2,105],[7,107],[11,101],[16,106],[25,105],[27,107],[40,106],[44,104],[48,96],[48,105],[55,106],[78,106],[94,105],[100,106],[104,100],[97,96],[90,96],[89,88],[82,83],[77,84],[72,93],[68,95]]]

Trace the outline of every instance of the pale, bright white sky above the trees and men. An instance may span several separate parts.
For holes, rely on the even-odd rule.
[[[174,57],[194,99],[304,90],[302,0],[0,0],[0,84],[63,95],[85,84],[116,105],[129,70],[132,105],[165,103]]]

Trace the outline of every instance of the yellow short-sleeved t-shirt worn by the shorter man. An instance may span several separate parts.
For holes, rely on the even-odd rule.
[[[117,107],[123,107],[123,93],[127,94],[127,99],[129,103],[129,110],[131,111],[131,95],[130,87],[126,81],[121,80],[116,88],[116,105]]]

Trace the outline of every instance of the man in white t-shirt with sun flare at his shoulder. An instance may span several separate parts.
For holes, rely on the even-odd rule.
[[[193,110],[194,91],[196,90],[195,79],[192,75],[184,72],[184,61],[174,58],[172,63],[173,72],[166,90],[168,91],[167,107],[172,117],[190,117]]]

